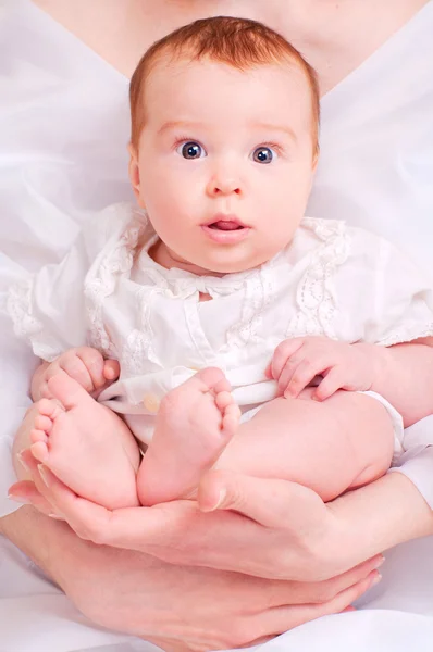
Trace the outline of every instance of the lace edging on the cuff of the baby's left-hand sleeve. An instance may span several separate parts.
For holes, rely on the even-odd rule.
[[[28,340],[35,355],[52,362],[62,353],[62,348],[33,314],[33,287],[34,279],[29,278],[9,288],[7,311],[12,319],[16,337]]]

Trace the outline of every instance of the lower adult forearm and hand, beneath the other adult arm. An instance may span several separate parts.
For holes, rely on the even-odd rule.
[[[381,561],[308,585],[176,566],[95,546],[30,507],[1,519],[0,531],[18,546],[21,541],[27,554],[35,547],[36,561],[95,624],[170,652],[251,645],[344,611],[378,578],[373,568]]]

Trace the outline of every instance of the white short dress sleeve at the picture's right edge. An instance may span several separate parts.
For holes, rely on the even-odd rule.
[[[370,271],[361,275],[371,287],[360,339],[391,347],[433,336],[433,283],[391,242],[378,238],[372,250]]]

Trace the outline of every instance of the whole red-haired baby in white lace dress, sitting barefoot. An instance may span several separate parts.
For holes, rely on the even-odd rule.
[[[259,23],[201,20],[146,52],[131,110],[138,206],[11,289],[46,361],[15,450],[110,510],[194,497],[212,466],[325,501],[383,475],[433,412],[432,296],[388,242],[305,217],[311,67]]]

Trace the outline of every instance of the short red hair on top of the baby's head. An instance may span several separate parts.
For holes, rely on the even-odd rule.
[[[163,55],[225,63],[240,71],[257,65],[295,63],[311,90],[314,150],[319,149],[319,84],[316,71],[283,36],[257,21],[216,16],[201,18],[175,29],[154,42],[138,63],[129,85],[131,141],[137,147],[145,122],[144,87],[152,67]]]

